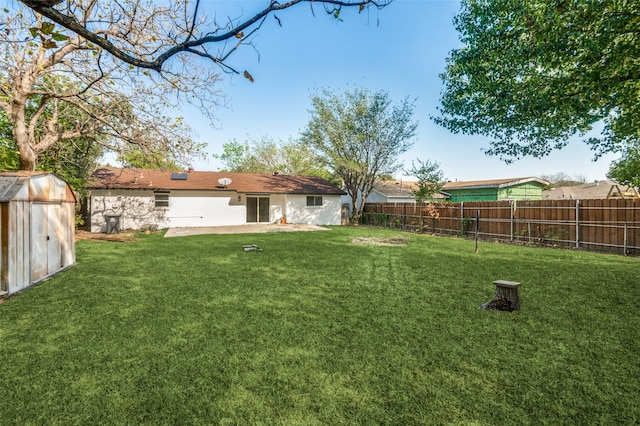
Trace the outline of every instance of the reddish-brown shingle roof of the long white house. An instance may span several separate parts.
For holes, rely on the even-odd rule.
[[[226,187],[218,182],[231,179]],[[87,185],[91,189],[156,189],[235,191],[254,194],[323,194],[345,192],[316,176],[260,175],[251,173],[169,171],[98,168]]]

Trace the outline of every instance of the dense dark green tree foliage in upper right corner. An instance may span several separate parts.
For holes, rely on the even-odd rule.
[[[507,162],[543,157],[571,136],[596,158],[640,137],[640,3],[463,0],[435,121],[491,138]]]

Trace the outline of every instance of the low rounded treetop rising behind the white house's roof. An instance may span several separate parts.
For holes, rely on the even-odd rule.
[[[222,148],[223,153],[213,157],[224,163],[226,171],[331,178],[316,154],[308,146],[292,139],[284,142],[263,137],[244,143],[233,139]]]

